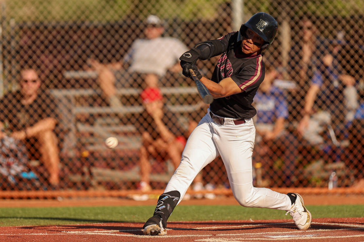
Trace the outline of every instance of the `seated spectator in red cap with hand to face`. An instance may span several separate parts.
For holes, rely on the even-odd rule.
[[[139,166],[141,172],[141,181],[138,189],[142,191],[150,191],[150,158],[154,158],[158,165],[170,159],[174,169],[177,169],[181,162],[182,151],[185,148],[187,138],[197,126],[197,122],[189,120],[188,127],[182,128],[174,114],[165,111],[163,97],[158,88],[148,87],[141,93],[143,105],[145,107],[145,115],[143,115],[141,126],[144,128],[142,132],[142,147],[140,149]],[[195,178],[193,190],[204,190],[202,185],[201,173]],[[196,196],[201,198],[201,196]],[[213,198],[213,194],[208,194],[209,198]],[[147,199],[147,196],[133,196],[136,200]]]

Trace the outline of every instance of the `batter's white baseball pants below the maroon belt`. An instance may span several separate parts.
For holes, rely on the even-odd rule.
[[[198,172],[221,155],[230,187],[240,205],[288,211],[291,201],[286,194],[268,188],[253,187],[253,120],[235,125],[233,119],[225,118],[224,124],[220,125],[212,120],[209,112],[210,108],[188,138],[181,163],[168,182],[165,192],[178,190],[181,193],[180,202]]]

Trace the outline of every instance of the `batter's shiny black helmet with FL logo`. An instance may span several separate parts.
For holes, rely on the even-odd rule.
[[[265,44],[261,47],[264,50],[272,44],[274,37],[276,37],[278,23],[268,13],[256,13],[245,24],[241,25],[238,41],[242,40],[242,35],[245,34],[246,28],[256,32],[265,41]]]

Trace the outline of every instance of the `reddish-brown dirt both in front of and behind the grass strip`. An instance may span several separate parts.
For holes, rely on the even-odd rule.
[[[364,195],[304,195],[306,205],[363,204]],[[72,198],[53,200],[0,200],[1,207],[126,206],[155,205],[157,197],[147,201],[121,198]],[[184,200],[181,205],[238,205],[233,197],[214,200]],[[0,227],[0,241],[364,241],[364,218],[313,219],[307,231],[292,220],[169,222],[167,235],[142,235],[142,223],[92,223],[59,226]]]

